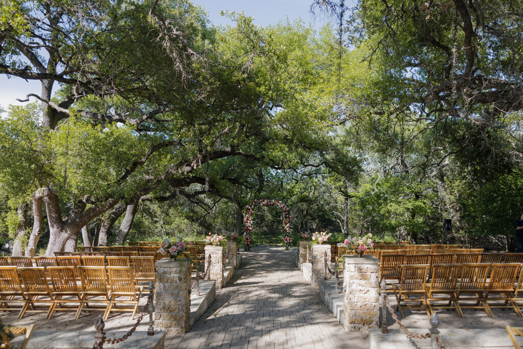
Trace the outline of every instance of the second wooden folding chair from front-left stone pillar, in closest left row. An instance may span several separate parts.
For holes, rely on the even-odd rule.
[[[87,311],[103,311],[105,318],[109,309],[109,284],[107,283],[107,271],[100,266],[78,266],[78,274],[82,281],[81,301],[76,311],[75,319],[78,319],[84,309]],[[101,299],[100,299],[101,298]],[[105,307],[91,307],[91,303],[105,304]]]

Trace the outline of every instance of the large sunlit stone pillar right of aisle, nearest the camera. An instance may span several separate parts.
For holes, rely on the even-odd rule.
[[[381,299],[378,258],[344,255],[343,260],[343,327],[350,332],[379,328]]]

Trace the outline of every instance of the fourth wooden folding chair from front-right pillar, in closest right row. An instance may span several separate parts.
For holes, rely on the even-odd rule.
[[[485,302],[489,310],[492,308],[505,309],[511,306],[516,314],[519,317],[521,316],[521,311],[511,297],[520,266],[519,263],[496,263],[492,265],[491,277],[485,292]],[[498,301],[503,301],[503,304],[497,303]],[[508,303],[510,303],[510,306]],[[494,317],[492,310],[490,310],[490,313]]]

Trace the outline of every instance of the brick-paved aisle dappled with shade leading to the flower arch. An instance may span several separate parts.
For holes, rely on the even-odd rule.
[[[302,272],[292,251],[261,246],[241,252],[242,267],[185,335],[166,348],[366,348],[367,337],[347,333]]]

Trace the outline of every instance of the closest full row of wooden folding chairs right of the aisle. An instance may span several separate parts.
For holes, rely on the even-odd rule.
[[[523,301],[521,264],[434,264],[430,282],[426,283],[429,268],[428,264],[401,266],[400,284],[393,285],[393,290],[396,310],[402,316],[402,307],[410,307],[424,309],[429,316],[434,309],[455,310],[459,317],[464,317],[462,309],[482,309],[494,317],[492,308],[513,308],[521,317],[518,305]],[[441,301],[446,304],[435,303]]]

